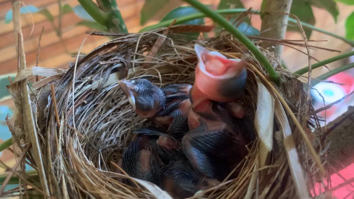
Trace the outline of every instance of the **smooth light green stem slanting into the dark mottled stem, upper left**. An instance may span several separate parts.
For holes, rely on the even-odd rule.
[[[107,27],[108,14],[99,10],[98,6],[92,0],[78,0],[81,6],[85,9],[89,15],[95,19],[97,23],[100,23]]]

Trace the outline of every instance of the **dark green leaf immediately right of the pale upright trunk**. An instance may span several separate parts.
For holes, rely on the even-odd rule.
[[[312,7],[307,0],[295,0],[292,2],[290,13],[297,16],[300,21],[314,25],[316,22],[315,16],[312,12]],[[289,23],[287,31],[301,32],[296,23]],[[310,38],[312,30],[304,29],[307,39]]]

